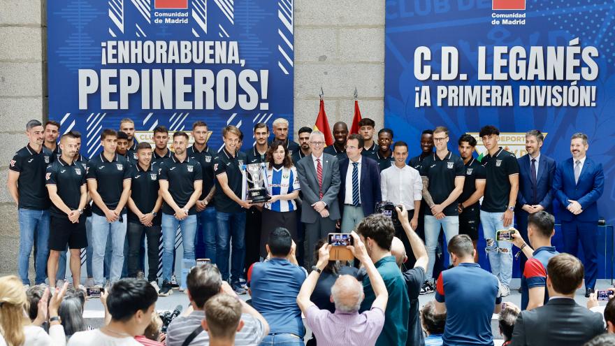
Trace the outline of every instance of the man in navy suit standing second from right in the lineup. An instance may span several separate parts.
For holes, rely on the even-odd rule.
[[[541,154],[544,134],[538,130],[526,133],[527,154],[519,157],[519,194],[516,195],[516,226],[523,240],[528,243],[528,216],[540,210],[553,214],[553,176],[555,160]],[[528,259],[521,255],[519,269],[523,274]]]

